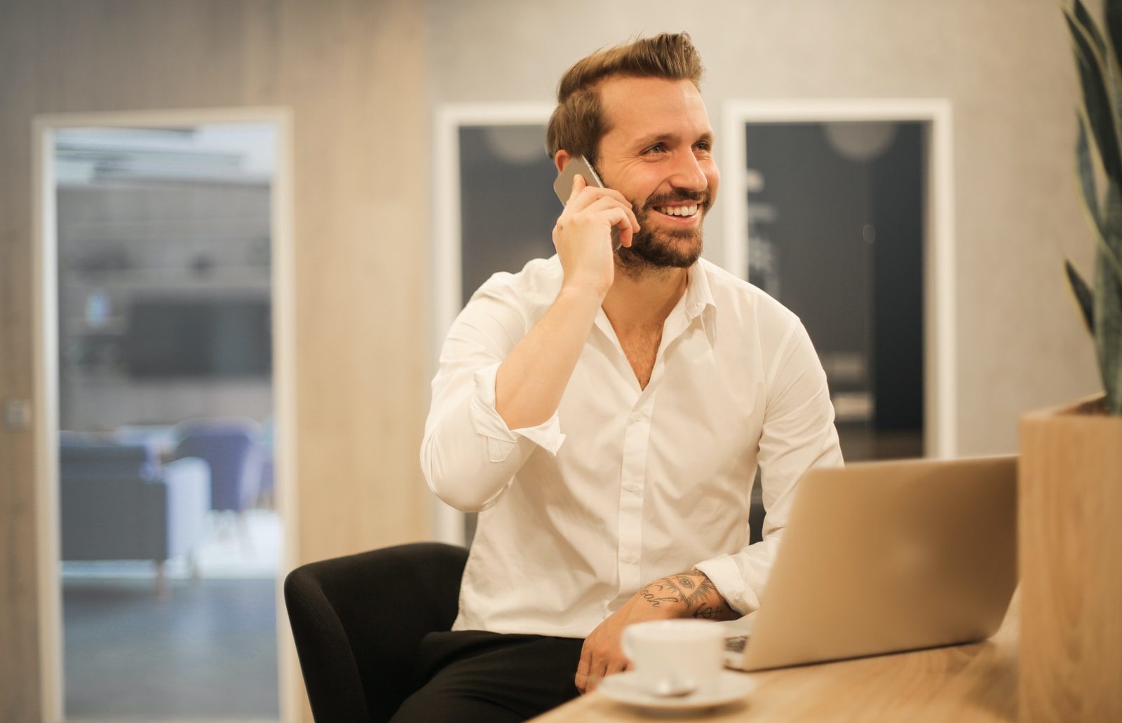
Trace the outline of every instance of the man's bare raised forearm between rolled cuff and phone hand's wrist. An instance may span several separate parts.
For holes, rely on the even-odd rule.
[[[600,303],[595,293],[562,288],[511,350],[495,378],[495,409],[507,427],[534,427],[557,411]]]

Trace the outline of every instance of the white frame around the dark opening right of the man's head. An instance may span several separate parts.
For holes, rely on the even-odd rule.
[[[744,126],[761,122],[921,121],[930,123],[923,248],[923,446],[957,451],[954,117],[947,99],[730,100],[723,105],[725,268],[747,274],[748,216]]]

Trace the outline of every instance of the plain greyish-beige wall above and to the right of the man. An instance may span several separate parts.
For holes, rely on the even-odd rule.
[[[1092,240],[1073,175],[1078,89],[1055,0],[571,0],[552,10],[432,0],[429,27],[438,103],[550,101],[574,58],[687,30],[718,146],[732,99],[949,99],[959,453],[1012,452],[1018,414],[1101,388],[1061,268],[1069,253],[1089,274]],[[717,213],[706,256],[718,263],[721,232]]]

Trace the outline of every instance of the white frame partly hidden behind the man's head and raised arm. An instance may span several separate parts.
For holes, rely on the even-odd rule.
[[[429,378],[436,373],[444,335],[460,313],[460,128],[465,126],[544,126],[553,103],[445,103],[433,123],[435,234],[433,237],[433,318]],[[542,154],[545,154],[544,146]],[[463,545],[463,513],[440,500],[433,503],[433,538]]]

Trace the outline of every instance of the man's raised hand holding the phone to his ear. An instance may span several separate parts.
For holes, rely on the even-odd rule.
[[[615,280],[611,228],[619,228],[619,242],[629,247],[638,221],[631,202],[618,191],[589,186],[577,175],[564,211],[553,226],[563,286],[588,289],[600,299]]]

